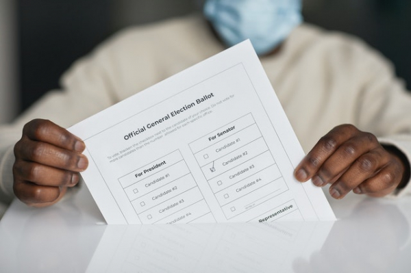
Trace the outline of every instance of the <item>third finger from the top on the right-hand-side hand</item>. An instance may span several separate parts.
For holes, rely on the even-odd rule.
[[[375,149],[359,157],[351,167],[329,187],[329,194],[333,198],[340,199],[346,196],[351,190],[358,187],[388,163],[390,157],[383,150]]]

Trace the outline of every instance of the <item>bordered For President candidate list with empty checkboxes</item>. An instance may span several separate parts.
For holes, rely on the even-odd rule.
[[[183,219],[190,222],[210,213],[179,150],[125,174],[118,181],[143,224]]]

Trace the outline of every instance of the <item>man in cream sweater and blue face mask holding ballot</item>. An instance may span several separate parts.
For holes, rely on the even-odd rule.
[[[378,53],[301,25],[301,0],[208,0],[204,14],[207,20],[195,15],[126,29],[64,75],[64,92],[47,94],[1,128],[3,200],[14,181],[14,194],[27,205],[58,202],[88,166],[84,142],[63,127],[245,38],[309,151],[297,180],[330,185],[334,198],[411,191],[411,96]]]

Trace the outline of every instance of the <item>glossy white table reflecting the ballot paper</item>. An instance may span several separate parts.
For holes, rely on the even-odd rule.
[[[411,198],[330,203],[336,222],[108,226],[86,187],[45,209],[15,200],[0,272],[411,272]]]

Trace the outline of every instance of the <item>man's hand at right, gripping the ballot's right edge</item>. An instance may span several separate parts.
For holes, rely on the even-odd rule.
[[[295,169],[298,181],[312,179],[318,187],[331,184],[329,194],[343,198],[356,194],[385,196],[404,183],[405,163],[387,151],[375,135],[353,125],[329,131]]]

